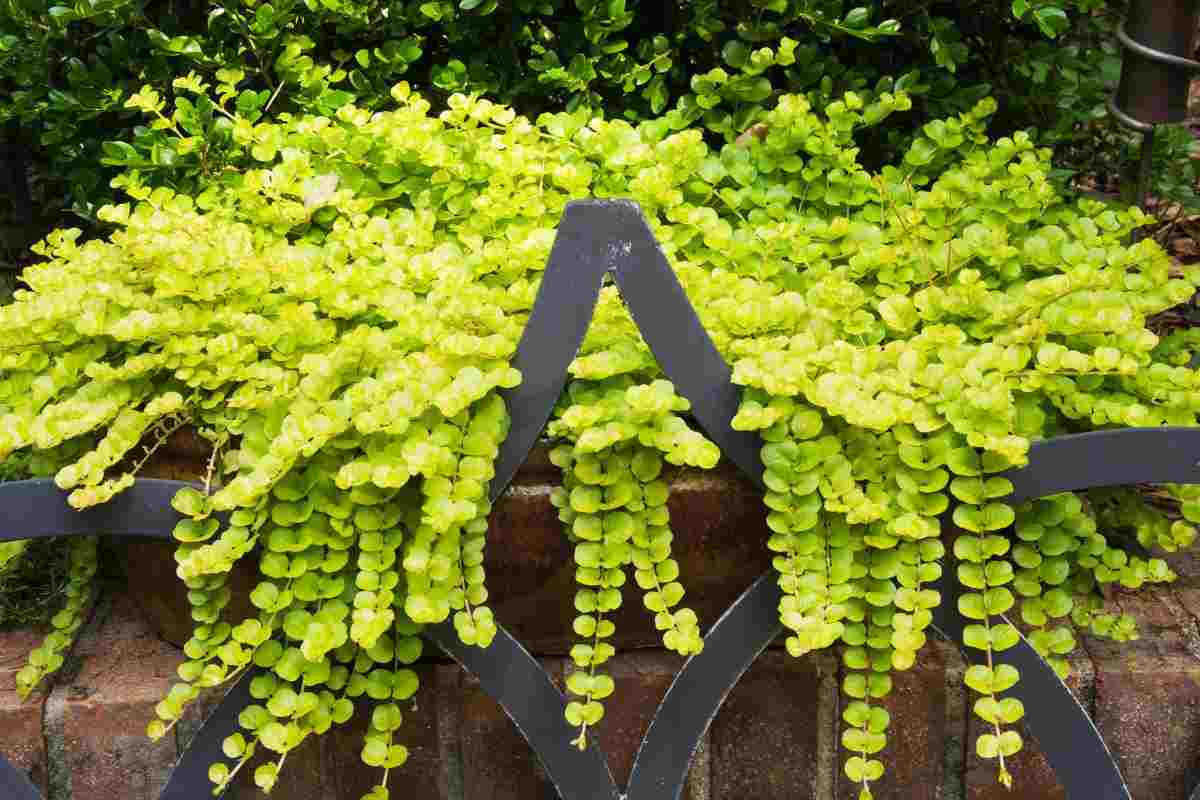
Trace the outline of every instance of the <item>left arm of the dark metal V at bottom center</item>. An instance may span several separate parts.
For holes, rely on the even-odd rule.
[[[541,760],[546,774],[566,800],[619,800],[620,792],[598,747],[578,750],[570,744],[574,729],[563,717],[566,699],[550,674],[512,636],[497,625],[486,649],[458,640],[449,622],[425,628],[425,637],[446,651],[479,679],[499,703]]]

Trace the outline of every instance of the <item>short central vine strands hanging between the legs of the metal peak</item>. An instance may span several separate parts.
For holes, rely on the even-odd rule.
[[[552,501],[575,542],[580,615],[574,628],[583,640],[571,648],[577,672],[568,676],[566,688],[578,699],[565,714],[580,730],[574,744],[583,750],[588,728],[604,718],[600,700],[614,690],[612,676],[598,667],[614,655],[605,642],[616,633],[606,614],[620,608],[628,567],[662,631],[664,646],[683,656],[704,646],[696,613],[677,608],[684,588],[671,558],[668,486],[661,475],[664,458],[712,468],[719,453],[678,416],[690,403],[666,380],[576,380],[564,399],[547,432],[571,443],[551,452],[563,469],[563,487]]]

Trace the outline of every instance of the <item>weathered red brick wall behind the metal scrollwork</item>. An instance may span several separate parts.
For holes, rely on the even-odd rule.
[[[160,474],[179,476],[179,463]],[[570,551],[548,504],[552,476],[527,469],[498,504],[488,571],[498,619],[560,676],[570,646]],[[767,565],[755,491],[725,473],[676,482],[673,524],[689,599],[712,621]],[[106,595],[58,685],[20,704],[12,674],[32,646],[28,631],[0,633],[0,751],[28,770],[50,800],[155,800],[199,724],[203,705],[158,744],[143,735],[168,686],[179,650],[178,593],[154,546],[128,551],[138,576]],[[167,552],[166,564],[169,564]],[[1075,656],[1072,688],[1092,714],[1138,800],[1186,800],[1200,782],[1200,560],[1181,559],[1169,589],[1116,597],[1139,616],[1139,642],[1116,646],[1090,638]],[[654,632],[630,593],[618,619],[623,649],[612,669],[617,693],[599,745],[623,782],[653,709],[680,660],[655,649]],[[173,596],[175,597],[173,600]],[[148,613],[148,610],[150,613]],[[431,649],[432,652],[432,649]],[[896,676],[888,774],[880,800],[1022,800],[1063,798],[1036,746],[1016,758],[1018,790],[992,782],[973,756],[977,724],[961,685],[962,661],[934,642]],[[457,667],[428,660],[422,690],[406,711],[409,763],[392,775],[406,800],[540,800],[553,798],[536,759],[500,709]],[[692,765],[690,800],[853,800],[841,777],[839,668],[829,654],[803,660],[770,649],[733,690]],[[215,702],[216,698],[210,700]],[[288,757],[272,796],[358,800],[376,780],[358,760],[361,720],[311,740]],[[248,770],[247,770],[248,772]],[[248,778],[248,775],[247,775]],[[258,796],[247,783],[229,796]]]

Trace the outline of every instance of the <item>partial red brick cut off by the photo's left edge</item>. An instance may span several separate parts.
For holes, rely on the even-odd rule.
[[[0,632],[0,753],[25,772],[34,786],[46,792],[46,739],[42,736],[42,706],[46,693],[28,700],[17,694],[17,670],[25,666],[29,651],[41,644],[41,631]]]

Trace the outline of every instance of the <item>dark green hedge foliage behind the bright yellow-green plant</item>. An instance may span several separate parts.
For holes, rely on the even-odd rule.
[[[821,103],[906,89],[913,109],[863,143],[868,161],[990,94],[994,133],[1033,130],[1061,178],[1103,181],[1135,143],[1104,115],[1123,11],[1120,0],[0,0],[0,261],[19,263],[53,225],[96,225],[121,172],[176,188],[220,172],[230,125],[220,113],[185,109],[206,144],[179,152],[127,106],[144,85],[169,97],[190,73],[252,120],[379,107],[408,80],[434,103],[473,92],[528,115],[674,109],[714,138],[752,127],[780,92]],[[1186,131],[1160,148],[1164,164],[1190,168]],[[1190,199],[1190,172],[1160,174]]]

